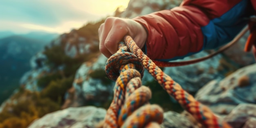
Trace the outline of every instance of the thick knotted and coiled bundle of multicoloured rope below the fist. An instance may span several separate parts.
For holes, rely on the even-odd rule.
[[[106,73],[111,80],[116,80],[116,84],[103,127],[160,128],[163,110],[148,103],[151,92],[141,86],[144,68],[139,59],[127,51],[127,46],[120,43],[117,53],[106,63]]]

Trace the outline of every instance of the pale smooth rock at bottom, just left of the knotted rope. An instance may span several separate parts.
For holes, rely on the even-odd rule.
[[[95,128],[105,115],[105,109],[93,106],[67,108],[35,120],[28,128]]]

